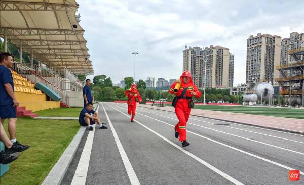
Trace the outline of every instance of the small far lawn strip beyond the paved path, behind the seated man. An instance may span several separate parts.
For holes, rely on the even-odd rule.
[[[37,111],[39,116],[54,116],[54,117],[79,117],[79,113],[83,108],[81,107],[73,107],[73,108],[55,108],[55,109],[47,109],[43,111]]]

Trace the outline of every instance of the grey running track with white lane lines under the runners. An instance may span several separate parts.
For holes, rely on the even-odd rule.
[[[62,184],[304,184],[304,135],[191,116],[182,148],[174,113],[100,103],[107,130],[86,131]],[[300,181],[289,181],[290,169]]]

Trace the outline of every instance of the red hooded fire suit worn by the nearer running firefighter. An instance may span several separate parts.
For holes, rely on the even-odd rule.
[[[188,83],[183,82],[183,77],[189,77],[190,80]],[[195,93],[195,97],[200,98],[202,93],[198,90],[198,88],[193,84],[193,80],[191,77],[191,73],[189,71],[184,71],[180,77],[181,86],[177,93],[175,93],[174,87],[176,82],[174,82],[169,89],[169,92],[175,94],[176,96],[180,96],[184,88],[188,87],[186,94],[182,99],[178,99],[175,106],[175,113],[179,120],[179,122],[175,125],[175,130],[179,133],[179,141],[186,141],[186,125],[190,116],[191,108],[189,108],[188,103],[191,101],[193,95],[191,92]]]

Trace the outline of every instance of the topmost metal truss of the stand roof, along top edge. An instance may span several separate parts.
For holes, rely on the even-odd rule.
[[[1,11],[77,11],[79,5],[0,0]]]

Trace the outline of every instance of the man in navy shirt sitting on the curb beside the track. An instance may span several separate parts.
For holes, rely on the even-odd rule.
[[[93,115],[91,116],[91,114]],[[80,125],[88,126],[88,129],[91,131],[93,130],[91,125],[95,124],[96,122],[99,124],[99,129],[107,129],[107,127],[103,125],[105,123],[101,123],[98,113],[93,110],[92,102],[88,102],[87,107],[83,108],[83,110],[80,112],[78,121]]]

